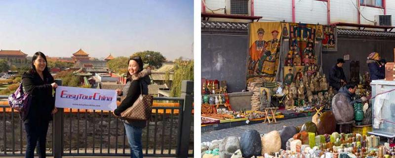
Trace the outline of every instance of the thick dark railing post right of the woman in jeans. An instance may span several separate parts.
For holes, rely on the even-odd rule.
[[[178,157],[187,158],[191,132],[192,104],[194,101],[194,81],[183,80],[181,83],[181,98],[184,98],[183,115],[181,122],[181,135],[178,147]]]

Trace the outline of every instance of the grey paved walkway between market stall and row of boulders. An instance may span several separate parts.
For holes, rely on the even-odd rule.
[[[241,134],[248,129],[255,129],[260,134],[269,133],[273,130],[281,130],[284,125],[299,126],[307,121],[312,121],[312,117],[292,118],[277,121],[276,124],[256,123],[250,125],[237,126],[233,128],[221,129],[201,134],[201,142],[211,142],[215,139],[223,139],[228,136],[241,137]]]

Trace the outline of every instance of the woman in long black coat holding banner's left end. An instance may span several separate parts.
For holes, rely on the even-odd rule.
[[[22,84],[25,91],[32,95],[28,114],[24,118],[27,136],[25,158],[34,158],[36,145],[39,157],[45,158],[48,124],[52,120],[52,114],[57,111],[52,89],[58,85],[48,71],[47,61],[42,52],[33,55],[32,67],[22,75]]]

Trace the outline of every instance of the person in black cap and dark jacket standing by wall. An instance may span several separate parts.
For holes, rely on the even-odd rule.
[[[336,90],[339,90],[342,84],[347,84],[347,79],[342,68],[344,63],[345,61],[343,59],[337,59],[336,65],[329,71],[329,85]]]

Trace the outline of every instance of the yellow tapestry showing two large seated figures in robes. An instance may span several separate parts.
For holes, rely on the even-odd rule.
[[[255,22],[250,24],[247,83],[273,82],[276,79],[280,56],[280,22]]]

